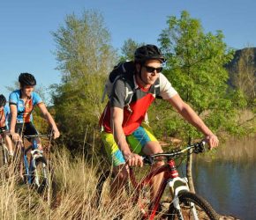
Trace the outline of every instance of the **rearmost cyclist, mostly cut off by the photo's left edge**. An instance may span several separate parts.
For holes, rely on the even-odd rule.
[[[0,95],[0,134],[3,133],[4,142],[9,151],[9,158],[12,160],[13,158],[13,150],[12,150],[12,143],[11,138],[8,136],[9,132],[9,119],[10,119],[10,108],[9,106],[5,105],[6,99],[3,94]]]

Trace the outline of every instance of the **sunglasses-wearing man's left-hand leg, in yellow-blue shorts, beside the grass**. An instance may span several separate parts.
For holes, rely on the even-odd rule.
[[[114,180],[110,184],[110,196],[114,200],[121,195],[124,190],[124,185],[129,177],[128,165],[125,165],[125,160],[121,150],[118,149],[117,143],[113,134],[102,132],[102,141],[104,148],[111,163],[112,172],[115,174]]]

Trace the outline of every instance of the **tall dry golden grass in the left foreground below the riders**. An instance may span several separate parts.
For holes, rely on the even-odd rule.
[[[101,164],[78,156],[72,158],[68,150],[56,150],[51,157],[57,184],[53,198],[46,192],[37,194],[27,185],[19,184],[12,175],[5,177],[6,167],[0,169],[0,218],[1,219],[115,219],[123,214],[124,219],[136,219],[138,210],[126,201],[110,202],[109,186],[106,183],[102,205],[95,207],[97,171]],[[96,165],[95,165],[96,164]]]

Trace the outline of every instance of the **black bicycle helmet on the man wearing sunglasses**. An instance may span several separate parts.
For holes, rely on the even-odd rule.
[[[165,62],[165,59],[160,51],[155,45],[147,44],[140,48],[137,48],[134,53],[134,61],[135,62],[146,62],[147,60],[161,60],[161,62]]]

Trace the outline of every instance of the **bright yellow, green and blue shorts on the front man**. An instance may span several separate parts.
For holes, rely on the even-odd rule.
[[[122,165],[125,163],[124,156],[119,150],[117,143],[112,133],[102,132],[102,141],[104,148],[107,152],[109,161],[112,165]],[[152,135],[147,128],[140,126],[132,135],[126,136],[126,141],[130,145],[130,149],[133,153],[140,154],[144,146],[148,142],[157,142],[154,135]]]

